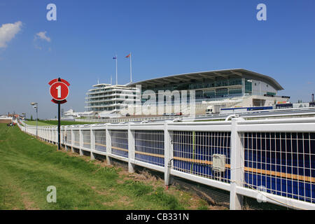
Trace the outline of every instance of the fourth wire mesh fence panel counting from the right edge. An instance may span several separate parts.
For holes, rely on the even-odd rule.
[[[111,130],[111,153],[128,158],[127,130]]]

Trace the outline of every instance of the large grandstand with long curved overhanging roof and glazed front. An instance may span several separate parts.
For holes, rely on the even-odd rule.
[[[290,98],[277,95],[283,87],[274,78],[246,69],[184,73],[127,85],[133,88],[140,86],[141,94],[153,90],[157,100],[160,90],[188,90],[188,99],[189,90],[195,90],[196,113],[204,113],[211,104],[225,107],[272,106]],[[142,103],[144,102],[146,97],[142,95]]]

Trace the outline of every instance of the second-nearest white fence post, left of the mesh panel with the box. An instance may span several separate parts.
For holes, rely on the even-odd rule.
[[[164,125],[164,181],[165,186],[172,184],[173,179],[171,178],[171,169],[173,166],[173,147],[171,143],[171,134],[168,130],[168,125]]]

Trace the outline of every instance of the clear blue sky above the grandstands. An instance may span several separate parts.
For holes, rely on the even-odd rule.
[[[48,3],[57,6],[57,21],[46,19]],[[258,3],[266,4],[267,21],[256,19]],[[118,83],[129,82],[129,52],[134,81],[244,68],[275,78],[285,89],[279,94],[293,102],[309,102],[314,11],[314,0],[1,0],[0,27],[21,25],[0,45],[0,114],[35,116],[30,102],[38,102],[39,118],[55,117],[48,82],[59,76],[71,84],[62,108],[84,111],[85,93],[97,79],[115,82],[116,53]]]

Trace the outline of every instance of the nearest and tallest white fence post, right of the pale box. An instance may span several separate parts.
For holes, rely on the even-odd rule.
[[[241,210],[243,196],[236,192],[237,186],[244,185],[244,148],[242,140],[237,131],[237,122],[242,118],[232,119],[231,131],[231,189],[230,189],[230,210]]]

